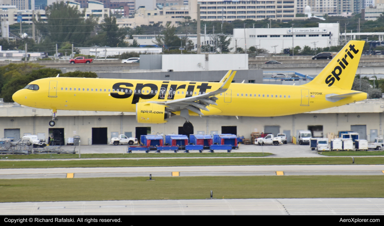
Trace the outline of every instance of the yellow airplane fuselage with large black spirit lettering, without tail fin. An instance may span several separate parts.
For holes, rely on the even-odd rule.
[[[22,105],[57,110],[135,112],[137,102],[166,101],[217,90],[222,83],[106,78],[53,77],[31,82],[38,90],[21,89],[14,100]],[[272,117],[339,106],[367,98],[359,93],[339,101],[327,94],[353,90],[326,85],[272,85],[231,83],[204,115]],[[17,98],[17,99],[15,99]],[[178,114],[177,112],[175,112]],[[190,112],[190,115],[196,115]]]

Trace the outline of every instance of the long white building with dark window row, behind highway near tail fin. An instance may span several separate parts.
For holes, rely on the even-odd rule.
[[[339,44],[339,24],[318,24],[318,28],[247,28],[233,29],[233,38],[230,47],[242,49],[254,46],[267,49],[270,53],[280,53],[285,48],[294,46],[329,47]],[[245,36],[245,38],[244,38]],[[293,36],[293,37],[292,37]],[[245,40],[246,39],[246,40]],[[245,42],[246,41],[246,42]],[[315,43],[314,43],[315,42]],[[235,48],[233,48],[235,50]]]

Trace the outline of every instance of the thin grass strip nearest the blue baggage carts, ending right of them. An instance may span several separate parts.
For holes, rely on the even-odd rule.
[[[183,151],[181,151],[183,152]],[[81,158],[172,158],[172,157],[263,157],[272,153],[132,153],[132,154],[81,154]],[[79,154],[2,155],[1,159],[77,159]]]

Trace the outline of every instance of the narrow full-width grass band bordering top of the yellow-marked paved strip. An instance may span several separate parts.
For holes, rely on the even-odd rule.
[[[2,161],[0,168],[143,167],[143,166],[234,166],[234,165],[346,165],[352,158],[201,158],[201,159],[118,159],[66,161]],[[356,157],[355,164],[384,164],[384,158]]]

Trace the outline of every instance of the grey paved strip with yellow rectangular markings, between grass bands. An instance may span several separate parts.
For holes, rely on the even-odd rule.
[[[174,172],[174,173],[172,173]],[[0,179],[171,176],[383,175],[384,165],[263,165],[0,169]]]

